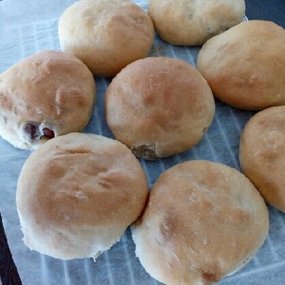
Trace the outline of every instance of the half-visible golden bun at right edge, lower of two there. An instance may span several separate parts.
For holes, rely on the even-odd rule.
[[[285,106],[253,116],[240,140],[240,166],[272,206],[285,212]]]

